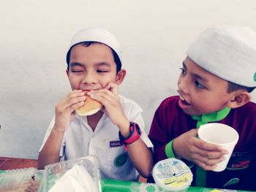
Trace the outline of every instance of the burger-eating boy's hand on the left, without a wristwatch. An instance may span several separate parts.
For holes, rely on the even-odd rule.
[[[86,96],[83,91],[74,90],[59,101],[55,107],[56,117],[54,128],[59,131],[65,131],[75,116],[75,110],[78,107],[82,107],[85,100]]]

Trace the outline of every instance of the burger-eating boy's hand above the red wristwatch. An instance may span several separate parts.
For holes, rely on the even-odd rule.
[[[104,105],[105,114],[108,115],[108,118],[116,126],[120,127],[122,123],[128,121],[118,97],[118,85],[115,83],[110,82],[105,88],[98,91],[91,91],[88,95],[91,99],[95,99]]]

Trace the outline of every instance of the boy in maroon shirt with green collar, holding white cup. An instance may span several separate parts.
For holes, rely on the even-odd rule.
[[[178,94],[160,104],[149,138],[155,161],[181,158],[192,169],[192,185],[256,190],[256,33],[247,27],[206,29],[190,45],[178,78]],[[197,138],[197,128],[225,123],[239,140],[227,168],[212,172],[226,150]],[[225,137],[225,135],[223,135]]]

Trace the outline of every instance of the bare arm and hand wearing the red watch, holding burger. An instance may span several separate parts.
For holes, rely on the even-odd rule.
[[[118,85],[109,83],[106,88],[89,93],[91,99],[96,99],[105,107],[105,114],[118,126],[121,135],[129,135],[129,120],[124,115],[121,102],[118,97]],[[143,177],[149,177],[153,166],[153,155],[151,150],[145,145],[142,139],[138,139],[130,145],[127,145],[129,157],[135,165],[138,172]]]

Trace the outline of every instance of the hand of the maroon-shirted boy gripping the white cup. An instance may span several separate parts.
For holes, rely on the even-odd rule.
[[[205,170],[212,170],[223,161],[227,150],[197,138],[197,128],[181,134],[173,140],[173,150],[178,157],[192,161]]]

